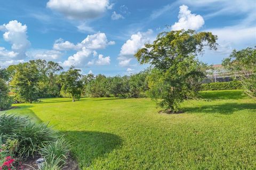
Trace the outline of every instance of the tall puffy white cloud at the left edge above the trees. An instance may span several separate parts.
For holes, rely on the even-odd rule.
[[[27,39],[27,25],[22,25],[17,20],[10,21],[7,24],[0,25],[0,30],[4,31],[3,38],[5,41],[12,45],[12,51],[7,51],[2,48],[2,52],[5,56],[25,58],[26,50],[30,46],[30,42]],[[0,54],[0,56],[2,56]]]

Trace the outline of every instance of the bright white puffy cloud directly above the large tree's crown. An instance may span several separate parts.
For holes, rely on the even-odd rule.
[[[172,25],[172,30],[198,30],[204,25],[203,17],[201,15],[191,14],[191,11],[188,10],[188,6],[186,5],[180,6],[178,18],[179,22],[175,22]]]

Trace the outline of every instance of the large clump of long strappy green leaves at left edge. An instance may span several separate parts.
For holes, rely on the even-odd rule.
[[[35,155],[45,143],[56,141],[59,137],[48,125],[31,123],[27,117],[15,115],[2,114],[0,130],[3,140],[18,140],[14,143],[7,142],[9,149],[12,146],[15,155],[26,157]]]

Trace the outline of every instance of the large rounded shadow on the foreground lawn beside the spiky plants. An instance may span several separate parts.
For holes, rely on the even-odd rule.
[[[80,167],[89,167],[94,159],[104,157],[122,146],[122,139],[111,133],[95,131],[66,131],[63,133],[70,141],[74,142],[72,152]]]

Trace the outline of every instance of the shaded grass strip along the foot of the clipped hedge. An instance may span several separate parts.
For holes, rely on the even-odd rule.
[[[247,96],[242,90],[226,90],[226,91],[201,91],[199,98],[218,100],[218,99],[242,99]]]

